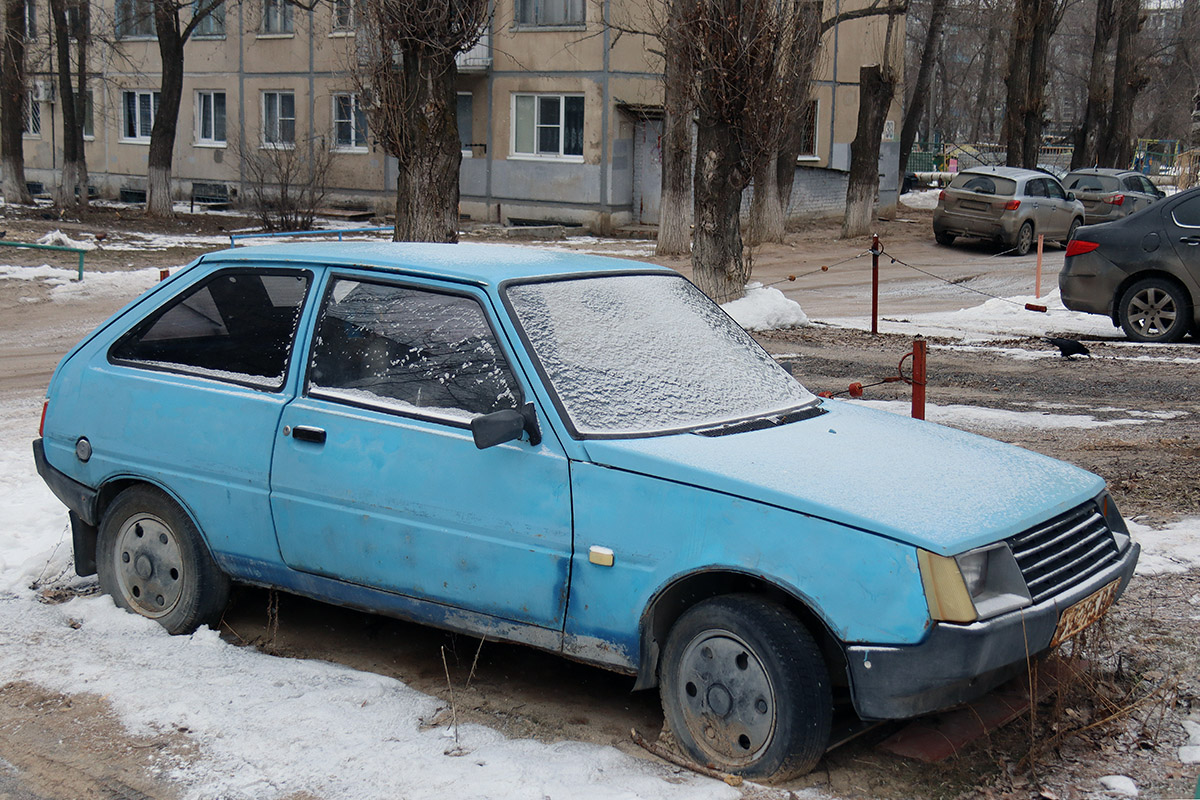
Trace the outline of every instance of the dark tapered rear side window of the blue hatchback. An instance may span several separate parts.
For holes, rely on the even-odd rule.
[[[118,339],[109,360],[277,391],[310,281],[300,271],[218,272]]]

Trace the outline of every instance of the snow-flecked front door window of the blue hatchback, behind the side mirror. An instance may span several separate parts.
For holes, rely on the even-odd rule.
[[[521,399],[478,301],[348,278],[325,297],[308,393],[461,421]]]

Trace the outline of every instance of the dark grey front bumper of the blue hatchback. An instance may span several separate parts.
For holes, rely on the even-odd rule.
[[[935,622],[920,644],[847,646],[854,710],[864,720],[901,720],[991,691],[1049,649],[1063,610],[1114,581],[1123,594],[1139,551],[1132,543],[1108,570],[1037,606],[970,625]]]

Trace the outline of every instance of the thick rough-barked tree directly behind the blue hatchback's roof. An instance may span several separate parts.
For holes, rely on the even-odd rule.
[[[458,240],[455,58],[474,47],[487,0],[366,0],[360,96],[384,151],[400,167],[396,241]]]

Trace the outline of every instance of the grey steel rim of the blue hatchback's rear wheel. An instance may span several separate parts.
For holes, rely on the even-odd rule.
[[[116,534],[113,561],[121,596],[143,616],[166,616],[179,604],[184,554],[175,531],[158,517],[130,517]]]

